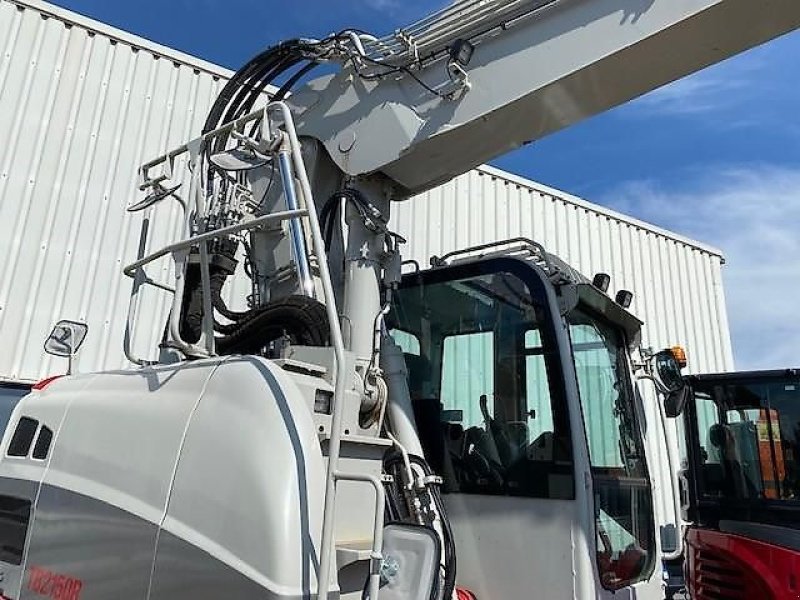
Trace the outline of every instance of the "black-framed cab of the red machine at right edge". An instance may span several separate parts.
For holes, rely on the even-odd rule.
[[[800,529],[800,372],[695,375],[687,382],[689,520]]]

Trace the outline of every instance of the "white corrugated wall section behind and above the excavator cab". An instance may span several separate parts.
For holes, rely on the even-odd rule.
[[[424,267],[431,255],[531,238],[589,277],[608,273],[612,296],[619,289],[634,292],[631,310],[645,322],[644,346],[684,346],[689,372],[733,369],[719,250],[492,167],[466,173],[418,200],[393,206],[393,227],[409,240],[405,258]],[[664,438],[678,447],[677,424],[670,421],[662,430],[653,386],[644,382],[640,389],[659,522],[674,523]],[[616,443],[608,424],[593,427],[593,444]]]

